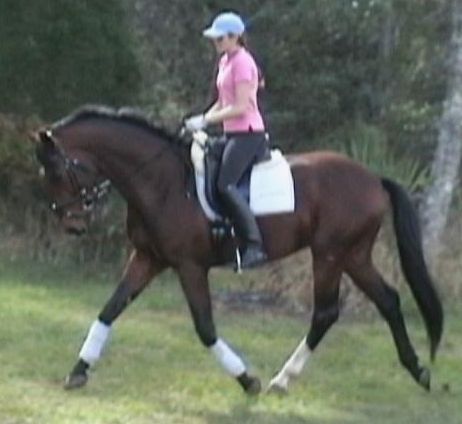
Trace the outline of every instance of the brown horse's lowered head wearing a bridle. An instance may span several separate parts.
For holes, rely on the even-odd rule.
[[[36,143],[36,156],[50,209],[57,215],[66,232],[81,235],[88,228],[94,203],[109,188],[90,164],[70,157],[49,129],[31,135]]]

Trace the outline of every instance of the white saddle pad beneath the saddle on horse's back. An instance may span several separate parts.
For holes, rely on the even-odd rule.
[[[199,202],[210,220],[219,215],[212,209],[205,195],[204,150],[207,135],[198,133],[191,146]],[[271,159],[252,168],[250,175],[250,209],[256,216],[290,213],[295,210],[294,180],[290,165],[280,150],[271,151]]]

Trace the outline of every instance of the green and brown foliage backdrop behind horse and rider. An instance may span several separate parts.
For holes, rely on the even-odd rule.
[[[248,23],[265,74],[261,102],[275,144],[285,151],[343,151],[398,179],[419,200],[430,181],[446,95],[450,1],[3,0],[5,255],[111,269],[123,262],[121,199],[113,195],[102,207],[88,236],[60,234],[43,199],[27,132],[84,103],[137,106],[175,129],[185,114],[210,101],[215,54],[200,34],[223,8],[237,9]],[[459,188],[450,220],[457,231],[460,200]],[[446,236],[441,267],[460,261],[457,234]],[[390,253],[382,256],[394,257],[394,245],[388,246]],[[394,270],[394,261],[384,262]],[[274,286],[290,286],[278,268],[269,272],[278,276]],[[294,278],[309,275],[297,271]],[[451,293],[460,291],[459,283],[445,284]],[[259,284],[250,278],[244,287]]]

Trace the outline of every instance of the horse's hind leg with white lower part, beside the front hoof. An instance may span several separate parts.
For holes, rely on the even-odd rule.
[[[268,391],[286,392],[291,378],[298,376],[310,353],[316,348],[339,315],[339,286],[342,268],[339,255],[314,254],[314,311],[311,329],[294,350],[281,370],[270,381]]]

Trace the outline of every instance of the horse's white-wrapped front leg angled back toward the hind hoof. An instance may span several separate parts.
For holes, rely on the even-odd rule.
[[[236,378],[247,394],[261,391],[260,380],[250,376],[242,359],[218,338],[212,316],[207,269],[193,263],[183,264],[177,269],[186,296],[194,326],[202,344],[209,349],[220,365]]]

